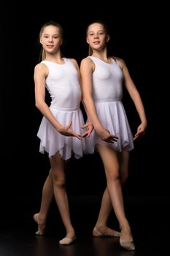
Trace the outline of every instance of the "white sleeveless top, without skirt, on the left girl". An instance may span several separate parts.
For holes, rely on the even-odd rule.
[[[69,59],[64,64],[42,61],[49,70],[46,88],[51,97],[52,108],[73,109],[80,107],[81,89],[77,69]]]

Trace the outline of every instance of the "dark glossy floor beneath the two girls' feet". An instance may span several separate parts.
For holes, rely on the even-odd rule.
[[[118,238],[93,238],[100,198],[72,196],[69,199],[72,223],[77,241],[61,246],[58,240],[65,236],[55,203],[50,208],[47,234],[35,236],[36,224],[32,215],[38,211],[39,199],[18,197],[15,202],[2,203],[0,228],[1,256],[168,256],[169,197],[125,197],[125,209],[136,244],[135,252],[120,247]],[[37,203],[38,202],[38,203]],[[113,213],[108,225],[118,227]]]

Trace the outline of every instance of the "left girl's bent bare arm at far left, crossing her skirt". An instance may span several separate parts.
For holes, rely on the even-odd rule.
[[[45,79],[48,75],[48,69],[45,64],[37,64],[34,69],[34,83],[35,83],[35,100],[36,108],[38,108],[42,115],[50,121],[50,124],[55,127],[55,129],[65,136],[74,136],[81,140],[81,135],[78,135],[70,127],[72,126],[72,121],[69,122],[65,127],[63,127],[53,116],[50,108],[45,102]]]

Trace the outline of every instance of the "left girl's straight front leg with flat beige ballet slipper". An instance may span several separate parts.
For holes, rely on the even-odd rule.
[[[65,240],[60,241],[60,244],[63,244],[63,242],[64,244],[70,244],[75,238],[75,233],[70,219],[69,203],[68,197],[66,195],[65,162],[57,153],[55,154],[55,156],[50,157],[50,164],[52,167],[53,191],[55,201],[58,205],[58,210],[60,211],[63,225],[66,228],[66,238],[63,238],[62,240]]]

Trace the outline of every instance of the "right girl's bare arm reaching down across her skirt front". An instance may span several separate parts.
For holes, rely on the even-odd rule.
[[[93,86],[92,86],[92,74],[94,71],[94,64],[89,58],[85,58],[81,61],[80,72],[82,78],[82,95],[83,102],[85,104],[85,110],[87,110],[88,117],[93,124],[94,129],[98,133],[98,136],[101,140],[104,140],[108,143],[114,143],[117,140],[117,136],[111,135],[106,127],[103,127],[101,121],[99,120],[96,107],[93,102]]]

